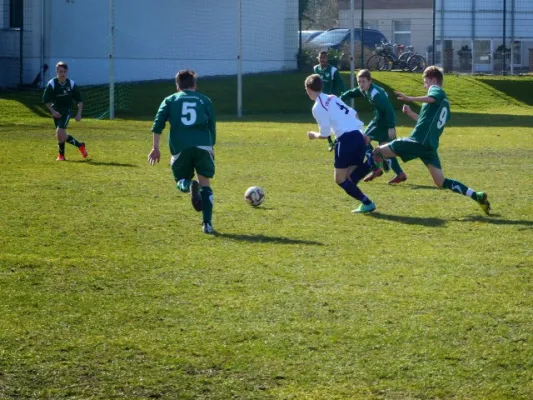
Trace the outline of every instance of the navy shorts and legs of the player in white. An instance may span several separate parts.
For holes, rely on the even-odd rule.
[[[375,204],[359,189],[357,183],[370,171],[370,162],[364,162],[365,139],[359,132],[345,133],[335,150],[335,183],[349,196],[363,203],[355,212],[370,212]]]

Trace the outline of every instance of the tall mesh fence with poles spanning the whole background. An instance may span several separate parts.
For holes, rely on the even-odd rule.
[[[66,61],[82,84],[102,85],[111,117],[115,83],[181,68],[236,76],[240,115],[253,92],[243,75],[310,72],[320,50],[341,70],[528,73],[533,1],[0,1],[0,88],[42,88],[45,66]]]

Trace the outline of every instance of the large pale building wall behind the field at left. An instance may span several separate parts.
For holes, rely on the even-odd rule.
[[[295,69],[298,2],[240,3],[242,72]],[[237,74],[239,26],[235,0],[0,1],[0,87],[31,84],[43,64],[46,81],[58,61],[81,84]]]

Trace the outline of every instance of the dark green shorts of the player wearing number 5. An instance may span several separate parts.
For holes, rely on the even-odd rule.
[[[185,149],[170,160],[174,179],[192,179],[196,174],[212,178],[215,176],[215,157],[212,152],[198,147]]]

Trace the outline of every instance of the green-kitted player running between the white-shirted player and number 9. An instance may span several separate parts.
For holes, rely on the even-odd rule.
[[[344,92],[341,100],[346,102],[348,99],[357,97],[364,97],[374,107],[374,118],[365,129],[365,135],[372,141],[384,145],[391,140],[396,139],[396,114],[392,108],[392,103],[387,95],[387,92],[381,87],[372,82],[370,71],[362,69],[357,74],[357,86],[352,90]],[[374,148],[370,143],[367,145],[367,154],[372,155]],[[400,163],[396,157],[391,158],[390,167],[396,174],[389,184],[401,183],[407,180],[407,175],[403,172]],[[368,176],[363,179],[365,182],[370,182],[373,179],[383,175],[383,169],[377,168],[373,170]]]

